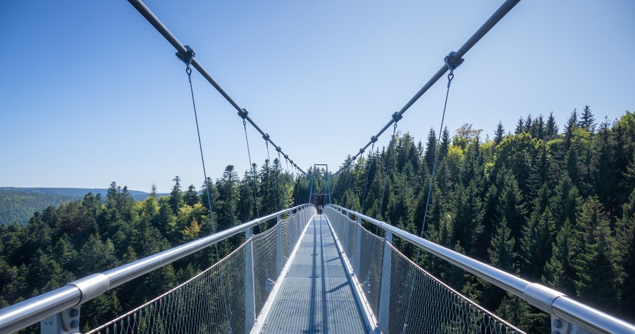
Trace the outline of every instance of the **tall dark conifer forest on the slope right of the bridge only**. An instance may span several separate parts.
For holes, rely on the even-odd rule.
[[[340,172],[335,202],[632,322],[635,113],[596,123],[587,105],[562,131],[551,114],[481,132],[441,133],[425,226],[434,129],[425,144],[397,134]],[[501,289],[429,255],[419,264],[519,328],[550,331],[546,314]]]

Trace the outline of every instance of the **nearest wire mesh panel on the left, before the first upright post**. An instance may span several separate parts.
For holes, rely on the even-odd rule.
[[[242,333],[245,244],[182,285],[88,333]]]

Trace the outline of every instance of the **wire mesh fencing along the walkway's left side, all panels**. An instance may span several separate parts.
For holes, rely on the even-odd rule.
[[[315,211],[307,207],[290,215],[194,278],[87,334],[244,333],[248,244],[253,249],[254,304],[259,314],[278,279],[277,229],[284,265]]]

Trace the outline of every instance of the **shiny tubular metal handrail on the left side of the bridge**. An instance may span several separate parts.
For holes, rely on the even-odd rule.
[[[285,214],[297,210],[300,212],[306,207],[314,206],[312,204],[303,204],[290,209],[276,212],[275,214],[266,215],[253,221],[225,229],[210,236],[200,238],[198,240],[185,243],[175,248],[165,250],[164,252],[150,255],[144,259],[124,264],[123,266],[110,269],[104,273],[92,274],[85,278],[77,279],[68,285],[44,293],[37,297],[24,300],[18,304],[5,307],[0,310],[0,333],[13,333],[27,326],[41,321],[53,314],[57,314],[70,307],[83,304],[108,290],[119,286],[123,283],[138,278],[144,274],[153,271],[166,264],[170,264],[175,260],[181,259],[187,255],[193,254],[203,248],[210,247],[215,243],[225,240],[238,233],[246,231],[269,221],[278,215]]]

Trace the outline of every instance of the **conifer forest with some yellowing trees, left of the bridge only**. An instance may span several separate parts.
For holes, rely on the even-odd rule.
[[[173,181],[170,195],[159,196],[152,186],[150,196],[143,201],[135,201],[126,186],[113,182],[105,198],[87,193],[82,200],[36,212],[25,226],[17,222],[1,224],[0,309],[88,274],[196,240],[214,229],[227,229],[295,202],[304,203],[309,191],[307,178],[296,177],[294,181],[290,172],[283,172],[278,158],[271,164],[265,160],[260,170],[253,164],[242,179],[233,165],[227,165],[222,177],[206,179],[200,191],[193,184],[184,189],[178,176]],[[294,189],[303,189],[302,199]],[[260,231],[266,228],[266,223],[260,225]],[[243,237],[234,236],[220,243],[220,258],[243,241]],[[210,267],[216,261],[214,248],[161,267],[83,304],[81,330],[116,318]],[[39,326],[22,332],[39,333]]]

